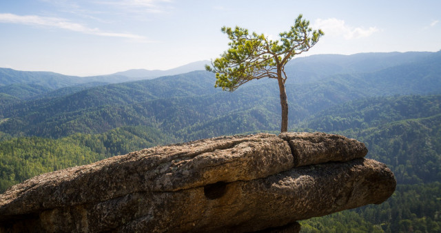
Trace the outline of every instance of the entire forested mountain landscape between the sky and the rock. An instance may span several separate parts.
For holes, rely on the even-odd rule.
[[[289,131],[362,141],[398,181],[384,203],[300,221],[302,232],[441,232],[441,52],[317,55],[286,70]],[[156,145],[280,129],[271,80],[222,92],[204,71],[112,84],[31,74],[0,72],[0,192]]]

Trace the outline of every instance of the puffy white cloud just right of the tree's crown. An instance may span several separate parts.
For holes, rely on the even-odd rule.
[[[345,39],[358,39],[362,37],[369,37],[374,32],[378,32],[378,28],[369,27],[355,28],[348,26],[344,20],[330,18],[330,19],[316,19],[313,23],[313,28],[322,29],[327,36],[344,37]]]

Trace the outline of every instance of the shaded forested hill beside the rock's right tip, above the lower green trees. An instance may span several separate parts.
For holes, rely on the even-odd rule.
[[[398,183],[441,180],[441,95],[375,97],[317,114],[304,126],[343,134],[367,145]]]

